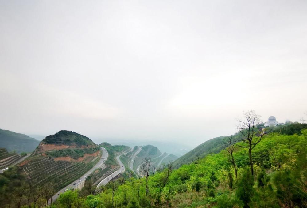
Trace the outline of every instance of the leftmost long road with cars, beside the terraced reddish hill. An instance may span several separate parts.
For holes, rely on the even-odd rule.
[[[108,152],[107,150],[105,150],[103,147],[101,147],[102,150],[102,158],[105,158],[105,160],[107,160],[108,158]],[[97,168],[101,167],[103,165],[105,161],[103,159],[99,159],[99,161],[96,163],[96,165],[94,167],[92,167],[89,171],[87,171],[83,176],[80,176],[81,181],[79,182],[79,180],[75,180],[74,182],[72,182],[71,184],[65,186],[64,188],[62,188],[60,191],[58,191],[54,196],[52,196],[52,202],[54,202],[61,193],[65,192],[66,189],[72,189],[76,186],[78,186],[78,184],[83,183],[84,184],[84,180],[85,178],[90,175],[91,173],[93,173]],[[74,185],[74,183],[76,183]],[[48,204],[50,204],[50,199],[48,201]]]

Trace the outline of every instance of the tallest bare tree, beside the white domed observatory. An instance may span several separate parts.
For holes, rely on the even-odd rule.
[[[251,166],[251,174],[254,175],[253,169],[253,158],[251,151],[255,148],[255,146],[262,140],[262,138],[268,134],[270,130],[265,131],[264,128],[258,126],[262,123],[260,120],[260,116],[255,113],[254,110],[249,110],[246,113],[243,113],[244,119],[238,120],[238,130],[242,135],[243,145],[236,144],[239,147],[244,147],[248,149],[250,166]]]

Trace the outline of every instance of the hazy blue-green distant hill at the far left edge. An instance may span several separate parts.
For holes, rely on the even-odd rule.
[[[0,147],[6,148],[8,152],[32,152],[39,143],[27,135],[0,129]]]

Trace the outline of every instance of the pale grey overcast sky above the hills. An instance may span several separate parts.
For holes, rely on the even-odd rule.
[[[307,1],[0,1],[0,128],[196,146],[307,111]],[[306,117],[307,119],[307,117]]]

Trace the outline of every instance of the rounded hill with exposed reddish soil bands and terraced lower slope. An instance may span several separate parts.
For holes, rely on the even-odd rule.
[[[19,167],[34,186],[52,182],[60,189],[91,169],[100,155],[100,147],[91,139],[63,130],[46,136]]]

